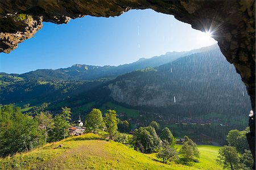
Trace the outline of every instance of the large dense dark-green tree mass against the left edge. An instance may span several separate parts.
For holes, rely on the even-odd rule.
[[[0,156],[29,151],[42,144],[38,122],[22,114],[19,107],[0,107]]]

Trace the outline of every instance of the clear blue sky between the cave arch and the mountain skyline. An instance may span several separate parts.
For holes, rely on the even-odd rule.
[[[26,73],[59,69],[75,63],[121,65],[166,52],[216,44],[212,38],[153,10],[130,10],[121,16],[85,16],[68,24],[43,23],[34,38],[10,54],[0,54],[0,72]]]

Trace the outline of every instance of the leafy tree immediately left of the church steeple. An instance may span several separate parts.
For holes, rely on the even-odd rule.
[[[57,114],[54,117],[54,125],[55,127],[50,131],[49,141],[60,141],[61,139],[65,139],[68,135],[68,128],[71,126],[69,120],[71,120],[71,109],[70,108],[62,108],[62,112]]]

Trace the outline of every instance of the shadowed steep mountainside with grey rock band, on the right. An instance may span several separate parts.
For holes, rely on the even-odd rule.
[[[172,112],[193,108],[199,113],[227,114],[250,109],[245,86],[219,49],[121,75],[107,88],[113,100],[139,108],[175,108]]]

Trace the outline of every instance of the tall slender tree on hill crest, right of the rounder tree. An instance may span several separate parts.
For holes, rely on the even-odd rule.
[[[108,110],[105,114],[104,122],[109,133],[109,139],[112,140],[115,133],[117,133],[117,114],[114,110]]]

